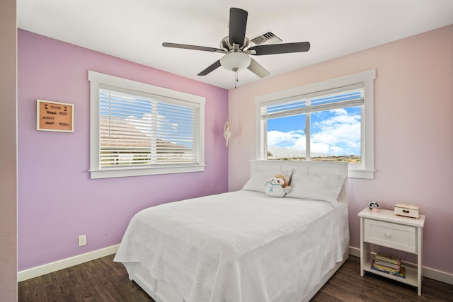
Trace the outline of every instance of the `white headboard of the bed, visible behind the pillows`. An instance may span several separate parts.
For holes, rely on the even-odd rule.
[[[297,173],[318,173],[345,175],[346,180],[338,197],[339,202],[348,205],[348,163],[330,161],[251,161],[252,170],[287,170]]]

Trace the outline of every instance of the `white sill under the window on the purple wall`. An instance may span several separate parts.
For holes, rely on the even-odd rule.
[[[173,173],[192,173],[205,171],[205,165],[156,167],[156,168],[110,168],[103,170],[89,170],[91,179],[124,178],[130,176],[161,175]]]

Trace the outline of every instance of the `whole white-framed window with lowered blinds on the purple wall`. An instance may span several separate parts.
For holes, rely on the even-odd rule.
[[[88,71],[91,178],[205,170],[205,98]]]

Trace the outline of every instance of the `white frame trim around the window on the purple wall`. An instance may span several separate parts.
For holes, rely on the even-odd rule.
[[[153,86],[147,83],[122,79],[117,76],[101,74],[96,71],[88,71],[88,81],[90,81],[90,170],[91,179],[98,178],[120,178],[128,176],[159,175],[171,173],[191,173],[202,172],[205,170],[205,98],[199,95],[192,95],[180,91],[173,91],[168,88]],[[193,165],[148,165],[140,167],[121,167],[121,168],[100,168],[100,144],[99,144],[99,89],[101,86],[113,86],[156,95],[159,98],[169,98],[173,100],[197,103],[200,105],[200,138],[199,138],[199,158],[200,161]]]

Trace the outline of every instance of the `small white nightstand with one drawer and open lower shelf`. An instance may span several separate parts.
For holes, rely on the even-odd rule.
[[[415,219],[397,216],[394,211],[380,209],[379,213],[374,213],[371,209],[365,208],[358,216],[360,217],[360,275],[363,277],[365,271],[372,272],[416,286],[418,296],[421,296],[425,215],[420,215],[419,219]],[[371,243],[416,254],[418,256],[417,267],[407,267],[403,264],[406,267],[406,278],[395,277],[372,269],[374,257],[370,250]]]

